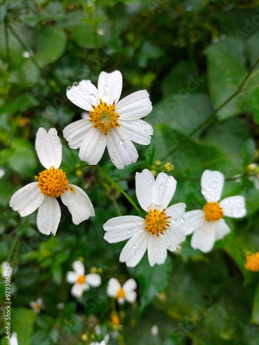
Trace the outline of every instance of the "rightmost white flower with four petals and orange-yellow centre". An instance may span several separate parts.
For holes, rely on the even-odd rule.
[[[201,179],[202,195],[207,201],[202,210],[185,213],[185,234],[193,233],[191,246],[208,253],[218,239],[230,232],[223,217],[242,218],[247,214],[244,197],[227,197],[220,202],[224,175],[219,171],[205,170]]]

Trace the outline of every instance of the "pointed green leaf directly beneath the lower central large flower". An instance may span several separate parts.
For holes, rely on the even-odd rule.
[[[133,268],[133,275],[140,283],[140,313],[150,304],[159,293],[162,293],[169,284],[169,277],[172,270],[172,262],[169,257],[162,265],[150,266],[145,257],[136,268]]]

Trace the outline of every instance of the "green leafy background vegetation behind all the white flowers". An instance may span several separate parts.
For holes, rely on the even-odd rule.
[[[95,324],[99,340],[111,334],[108,344],[258,344],[259,273],[244,268],[245,255],[259,251],[258,172],[249,168],[259,161],[256,6],[256,0],[1,1],[0,262],[14,268],[12,331],[19,344],[89,344]],[[81,118],[66,88],[82,79],[96,84],[99,72],[116,69],[123,96],[148,90],[153,112],[146,121],[155,132],[150,146],[137,147],[137,163],[117,170],[104,155],[99,166],[136,201],[135,172],[157,173],[171,163],[178,181],[173,203],[183,201],[188,210],[203,206],[202,172],[220,170],[223,197],[244,195],[247,217],[228,219],[231,233],[211,253],[193,250],[188,237],[165,264],[151,268],[144,257],[127,269],[119,263],[124,243],[104,240],[108,219],[136,212],[61,133]],[[42,170],[34,147],[39,127],[57,128],[61,167],[95,206],[96,217],[75,226],[61,205],[55,237],[39,233],[37,213],[21,218],[8,205]],[[66,273],[79,258],[86,273],[102,276],[102,286],[75,299]],[[136,279],[137,303],[119,307],[107,297],[111,277]],[[3,301],[4,288],[3,279]],[[30,301],[39,297],[45,308],[36,315]],[[114,313],[122,324],[117,337]],[[2,345],[4,326],[2,317]]]

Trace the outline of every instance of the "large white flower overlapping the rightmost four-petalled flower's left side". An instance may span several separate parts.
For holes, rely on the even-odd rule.
[[[185,239],[184,203],[169,205],[175,193],[176,181],[172,176],[160,172],[154,179],[148,169],[137,172],[136,194],[140,206],[148,213],[143,219],[138,216],[115,217],[106,221],[104,239],[115,243],[129,239],[119,256],[120,262],[135,266],[142,259],[146,249],[151,266],[163,264],[167,250],[175,251]]]

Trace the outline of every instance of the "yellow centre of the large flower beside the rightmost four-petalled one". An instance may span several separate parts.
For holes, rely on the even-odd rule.
[[[166,213],[164,210],[149,210],[148,214],[146,215],[146,226],[145,230],[148,231],[148,233],[151,233],[151,235],[157,235],[159,238],[160,235],[164,235],[164,231],[167,231],[168,227],[170,227],[170,217],[166,217]]]

